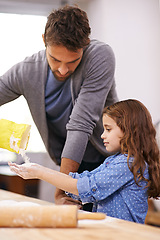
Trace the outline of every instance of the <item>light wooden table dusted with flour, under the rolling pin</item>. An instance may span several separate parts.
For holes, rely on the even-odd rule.
[[[35,198],[0,190],[1,200],[52,204]],[[7,213],[6,213],[7,214]],[[79,220],[77,228],[0,228],[2,240],[160,240],[160,229],[116,218]]]

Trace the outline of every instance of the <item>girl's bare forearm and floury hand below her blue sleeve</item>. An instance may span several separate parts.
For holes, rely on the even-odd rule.
[[[23,179],[41,179],[59,189],[79,195],[77,189],[77,179],[74,179],[67,174],[43,167],[36,163],[18,165],[16,163],[9,162],[8,164],[11,171],[15,172]]]

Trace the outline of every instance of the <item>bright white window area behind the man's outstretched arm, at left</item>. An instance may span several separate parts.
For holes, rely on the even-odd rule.
[[[1,24],[5,23],[5,24]],[[0,76],[26,56],[44,49],[42,33],[46,17],[0,13]],[[0,107],[0,118],[31,124],[27,151],[45,151],[44,144],[33,123],[26,100],[20,98]],[[0,149],[2,152],[2,149]],[[0,158],[1,160],[1,158]],[[2,157],[3,160],[3,157]]]

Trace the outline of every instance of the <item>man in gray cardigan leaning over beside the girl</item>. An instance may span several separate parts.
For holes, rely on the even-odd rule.
[[[50,157],[60,171],[92,170],[107,156],[101,140],[104,106],[116,102],[111,48],[90,41],[87,15],[78,7],[53,11],[40,51],[0,78],[0,105],[23,95]],[[75,203],[57,189],[56,203]]]

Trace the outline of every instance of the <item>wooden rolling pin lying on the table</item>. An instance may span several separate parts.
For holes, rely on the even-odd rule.
[[[104,219],[103,213],[79,211],[76,205],[0,206],[0,227],[77,227],[79,219]]]

